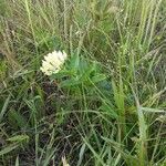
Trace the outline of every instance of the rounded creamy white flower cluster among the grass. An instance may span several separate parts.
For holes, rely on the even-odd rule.
[[[42,66],[40,70],[45,75],[52,75],[53,73],[58,73],[61,70],[64,61],[66,60],[66,53],[63,51],[53,51],[44,56],[42,60]]]

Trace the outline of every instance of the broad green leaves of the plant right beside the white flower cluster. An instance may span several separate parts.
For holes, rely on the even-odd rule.
[[[84,85],[90,89],[106,79],[96,62],[87,62],[79,55],[73,55],[69,61],[64,70],[52,76],[52,79],[61,79],[59,81],[61,87],[68,87],[72,91]]]

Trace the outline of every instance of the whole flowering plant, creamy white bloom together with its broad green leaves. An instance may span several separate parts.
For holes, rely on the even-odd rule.
[[[40,70],[61,87],[74,89],[79,85],[92,86],[106,80],[95,61],[80,55],[68,55],[64,51],[53,51],[44,56]]]

